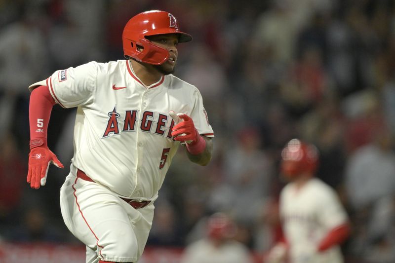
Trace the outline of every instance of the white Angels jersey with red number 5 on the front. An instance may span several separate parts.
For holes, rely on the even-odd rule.
[[[165,75],[146,87],[128,60],[56,71],[44,85],[60,106],[78,107],[72,165],[119,196],[156,199],[180,144],[170,134],[170,111],[214,137],[195,86]]]

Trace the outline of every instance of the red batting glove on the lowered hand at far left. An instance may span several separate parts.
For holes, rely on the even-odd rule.
[[[38,189],[40,185],[44,186],[46,183],[50,163],[53,163],[59,168],[64,168],[64,166],[41,139],[31,141],[30,145],[27,182],[31,188]]]

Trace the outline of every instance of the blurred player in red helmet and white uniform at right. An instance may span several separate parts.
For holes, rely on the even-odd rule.
[[[316,147],[298,139],[282,150],[281,173],[289,183],[280,193],[283,239],[265,263],[342,263],[341,244],[350,232],[336,192],[314,178]]]

